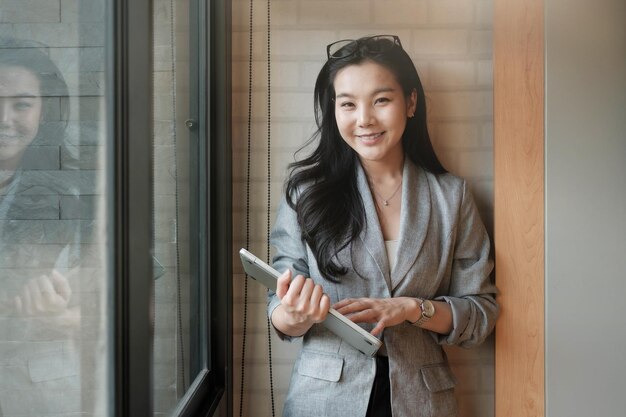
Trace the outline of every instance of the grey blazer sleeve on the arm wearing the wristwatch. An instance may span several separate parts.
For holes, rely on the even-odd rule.
[[[489,235],[465,181],[458,217],[451,232],[455,243],[449,292],[435,298],[452,308],[453,328],[448,335],[433,335],[439,344],[469,348],[481,344],[492,332],[499,307],[491,281]]]

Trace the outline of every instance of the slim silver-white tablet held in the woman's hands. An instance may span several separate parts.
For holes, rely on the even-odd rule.
[[[280,276],[278,271],[245,249],[239,251],[239,256],[243,269],[250,277],[276,291],[276,279]],[[326,320],[322,324],[364,355],[374,356],[382,346],[378,338],[333,308],[328,311]]]

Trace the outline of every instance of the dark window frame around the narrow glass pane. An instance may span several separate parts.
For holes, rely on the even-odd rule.
[[[203,369],[173,416],[211,416],[220,402],[232,414],[232,236],[230,0],[191,0],[197,38],[192,79],[198,88],[198,285],[206,300],[197,357]],[[152,250],[152,1],[108,4],[107,122],[111,278],[109,411],[152,416],[154,292]],[[131,23],[132,22],[132,23]],[[131,117],[132,115],[132,117]],[[202,298],[200,298],[202,299]]]

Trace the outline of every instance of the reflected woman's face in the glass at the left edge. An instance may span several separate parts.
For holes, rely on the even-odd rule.
[[[19,160],[41,120],[39,79],[30,70],[0,65],[0,162]]]

